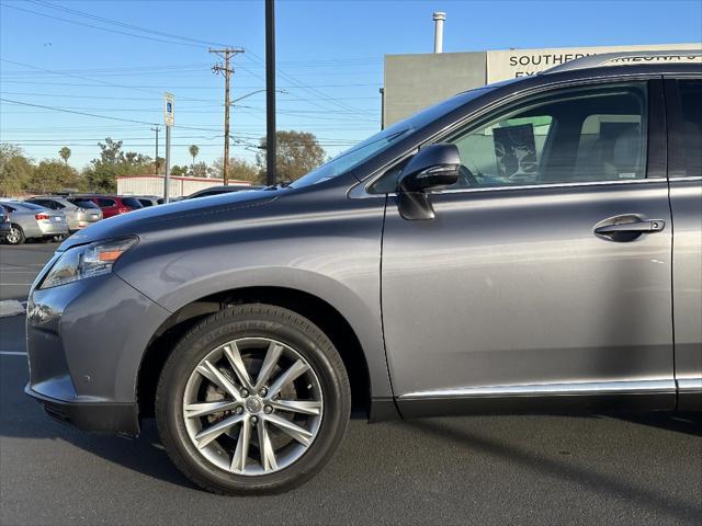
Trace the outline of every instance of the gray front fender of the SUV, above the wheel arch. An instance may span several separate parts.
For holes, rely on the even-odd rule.
[[[207,229],[190,226],[179,237],[170,232],[162,240],[150,237],[125,254],[129,260],[115,272],[171,312],[214,294],[249,287],[316,296],[355,332],[373,397],[392,397],[381,321],[384,201],[327,202],[333,210],[316,209],[308,196],[304,214],[295,203],[282,208],[270,204],[262,217],[249,215]]]

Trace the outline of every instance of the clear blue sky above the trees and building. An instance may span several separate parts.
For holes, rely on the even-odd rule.
[[[377,130],[383,56],[430,53],[437,10],[448,13],[444,52],[702,41],[699,0],[278,0],[279,129],[313,132],[329,153]],[[177,101],[173,163],[190,162],[191,144],[199,160],[220,157],[224,79],[210,45],[246,49],[233,99],[264,87],[263,0],[0,0],[0,98],[35,105],[0,103],[0,140],[37,160],[68,145],[81,168],[105,137],[152,157],[163,91]],[[233,156],[254,158],[264,107],[263,93],[235,105]]]

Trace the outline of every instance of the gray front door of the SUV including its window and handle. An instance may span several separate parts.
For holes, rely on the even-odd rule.
[[[443,139],[464,169],[430,195],[434,219],[406,220],[388,199],[382,304],[400,409],[603,392],[673,403],[672,229],[653,89],[522,101]]]

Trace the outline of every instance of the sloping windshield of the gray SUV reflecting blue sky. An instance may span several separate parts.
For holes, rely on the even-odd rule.
[[[393,126],[371,136],[353,148],[339,153],[329,162],[322,164],[316,170],[313,170],[297,181],[294,181],[290,186],[293,188],[309,186],[310,184],[321,183],[348,172],[371,159],[373,156],[386,150],[398,139],[411,135],[417,129],[422,128],[437,118],[475,99],[486,90],[488,90],[488,88],[478,88],[477,90],[460,93],[444,102],[428,107],[411,117],[400,121],[399,123],[396,123]]]

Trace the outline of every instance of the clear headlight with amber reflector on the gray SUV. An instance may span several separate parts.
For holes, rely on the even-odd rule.
[[[84,277],[107,274],[112,272],[112,265],[136,242],[137,238],[121,238],[69,249],[54,264],[39,288],[57,287]]]

